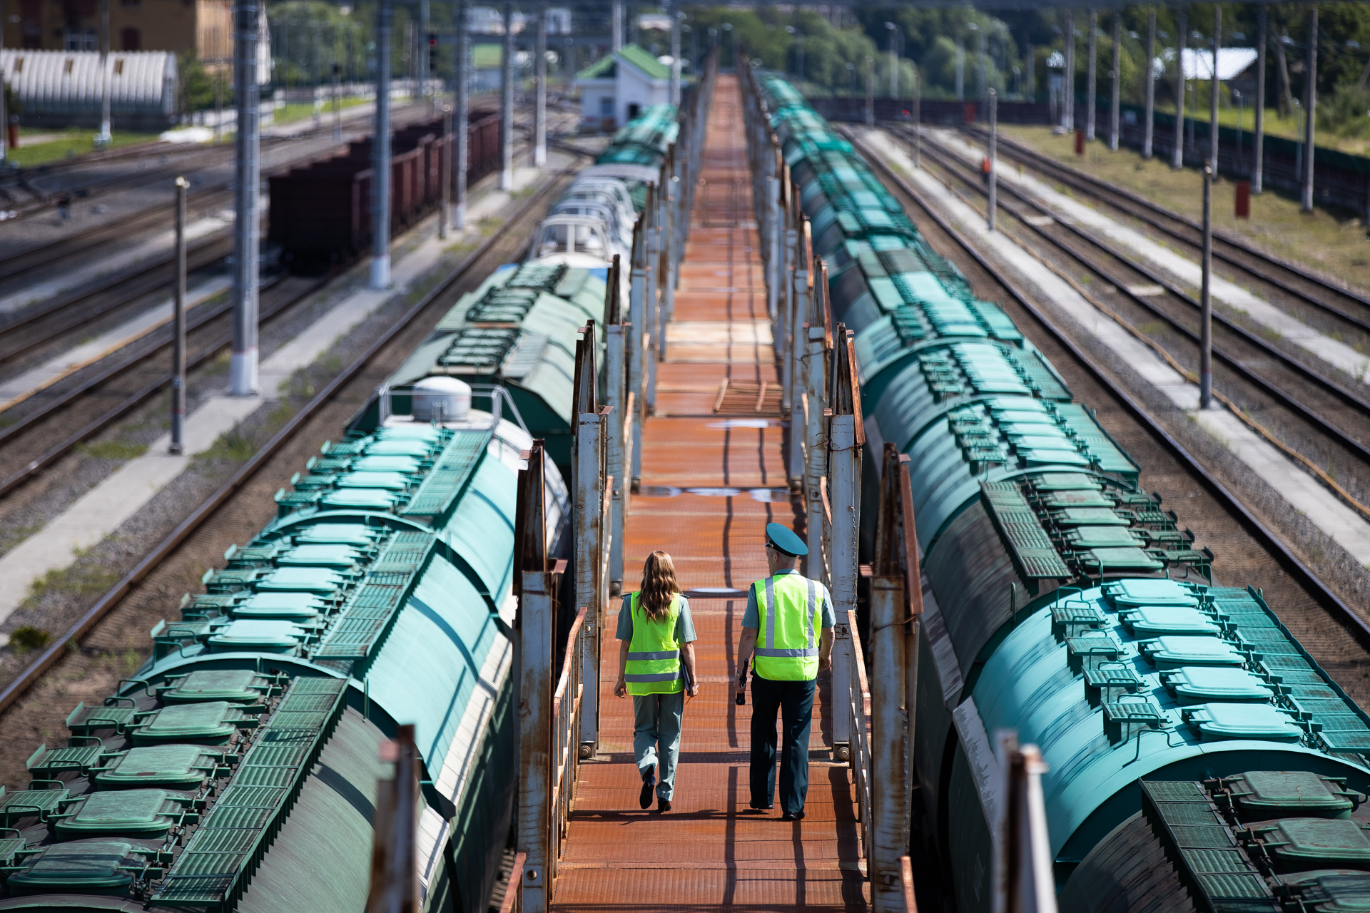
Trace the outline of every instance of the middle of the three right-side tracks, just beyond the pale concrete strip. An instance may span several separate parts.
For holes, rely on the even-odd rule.
[[[978,177],[954,153],[933,142],[925,146],[925,155],[963,188],[974,190],[978,197],[986,196]],[[1099,234],[1044,218],[1051,216],[1049,209],[1030,194],[1011,185],[1003,186],[1003,193],[1021,205],[1001,197],[1000,211],[1011,215],[1021,231],[1045,242],[1045,248],[1028,245],[1038,252],[1038,257],[1044,249],[1055,250],[1069,264],[1084,270],[1084,275],[1103,279],[1111,289],[1106,294],[1121,298],[1132,309],[1133,313],[1126,316],[1140,316],[1152,327],[1164,327],[1158,334],[1158,344],[1191,370],[1196,368],[1200,303],[1193,296],[1163,274],[1137,264]],[[1155,294],[1158,290],[1162,294]],[[1095,297],[1088,292],[1085,294]],[[1307,452],[1304,457],[1314,467],[1318,461],[1330,460],[1343,472],[1349,470],[1349,482],[1358,493],[1370,490],[1370,448],[1363,443],[1370,441],[1370,401],[1218,311],[1212,313],[1212,324],[1214,359],[1226,368],[1215,376],[1218,387],[1244,407],[1265,409],[1266,415],[1260,417],[1274,417],[1278,431],[1296,431],[1295,437],[1303,441],[1297,449]],[[1282,415],[1269,416],[1271,402]],[[1291,427],[1292,423],[1299,427]],[[1323,482],[1330,482],[1323,470],[1317,472]],[[1370,519],[1370,509],[1362,498],[1347,491],[1347,483],[1348,479],[1343,478],[1332,487]]]

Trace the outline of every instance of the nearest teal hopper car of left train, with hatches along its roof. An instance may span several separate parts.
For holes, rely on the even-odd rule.
[[[360,910],[381,745],[422,754],[425,910],[481,910],[510,827],[519,453],[451,389],[323,446],[153,654],[0,793],[0,909]],[[441,407],[441,408],[438,408]],[[566,487],[548,468],[551,538]],[[558,542],[551,543],[553,549]]]

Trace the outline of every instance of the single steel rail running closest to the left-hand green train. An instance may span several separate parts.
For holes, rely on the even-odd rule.
[[[319,390],[312,400],[310,400],[304,407],[296,412],[289,422],[286,422],[279,431],[271,435],[260,450],[258,450],[247,463],[240,465],[237,471],[225,482],[214,494],[211,494],[204,502],[201,502],[195,511],[190,512],[181,523],[177,524],[171,532],[159,542],[152,552],[142,556],[142,558],[130,569],[123,578],[114,584],[104,595],[101,595],[95,605],[86,609],[85,615],[71,626],[71,628],[59,639],[56,639],[52,646],[47,647],[29,667],[19,673],[19,676],[5,686],[0,691],[0,713],[7,710],[19,697],[27,691],[52,665],[66,653],[68,643],[75,643],[81,636],[90,631],[100,619],[103,619],[119,601],[127,595],[133,587],[136,587],[152,569],[171,552],[174,552],[182,542],[185,542],[192,532],[195,532],[200,526],[208,520],[238,489],[241,489],[262,467],[266,465],[277,450],[279,450],[286,441],[289,441],[314,415],[322,409],[337,393],[355,378],[360,371],[370,364],[371,359],[385,348],[390,339],[400,334],[414,319],[429,308],[438,297],[445,294],[463,275],[470,270],[481,257],[484,257],[490,248],[495,246],[496,241],[501,240],[510,229],[526,216],[534,205],[541,203],[553,190],[562,186],[563,178],[569,171],[560,171],[551,177],[541,190],[530,196],[523,205],[514,211],[510,218],[500,226],[490,237],[481,241],[481,244],[471,250],[458,264],[451,272],[448,272],[443,279],[430,289],[423,297],[415,301],[395,323],[392,323],[384,333],[381,333],[371,344],[366,348],[362,355],[359,355],[349,365],[342,368],[327,386]]]

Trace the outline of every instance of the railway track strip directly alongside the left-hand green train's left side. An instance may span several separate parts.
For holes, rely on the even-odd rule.
[[[273,478],[284,482],[303,461],[316,450],[318,443],[337,434],[364,401],[378,378],[397,368],[429,333],[436,320],[447,312],[452,303],[464,292],[475,287],[484,277],[501,263],[515,260],[526,249],[533,229],[549,200],[569,181],[569,172],[553,177],[534,194],[522,200],[518,208],[493,234],[485,238],[466,259],[444,277],[429,293],[414,303],[386,330],[379,333],[356,359],[344,367],[323,386],[279,431],[277,431],[251,459],[241,464],[233,475],[206,501],[192,509],[177,526],[149,552],[141,556],[119,582],[105,591],[70,621],[55,619],[66,632],[53,639],[53,646],[44,649],[19,675],[5,683],[0,691],[0,713],[10,710],[23,693],[38,682],[44,673],[63,657],[74,656],[68,645],[79,645],[103,619],[115,612],[111,619],[123,630],[141,631],[142,619],[166,612],[162,590],[167,586],[179,587],[178,580],[185,568],[166,569],[170,583],[145,587],[153,605],[130,605],[138,600],[126,600],[149,575],[158,574],[163,563],[174,553],[186,567],[212,565],[219,560],[226,538],[247,541],[264,523],[262,512],[270,515],[270,498],[263,500],[253,489],[240,500],[236,497],[259,472],[269,471]],[[271,483],[270,487],[274,487]],[[260,486],[259,486],[260,487]],[[174,561],[170,561],[174,563]]]

